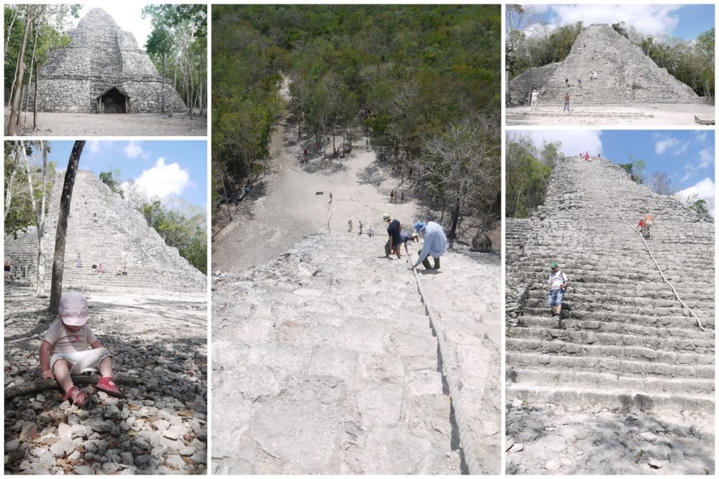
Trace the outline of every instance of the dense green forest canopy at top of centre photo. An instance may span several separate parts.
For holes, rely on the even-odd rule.
[[[454,168],[451,148],[431,152],[429,145],[450,137],[455,147],[487,142],[482,151],[492,153],[482,158],[491,157],[492,168],[472,173],[493,181],[482,183],[482,194],[463,192],[459,202],[462,211],[494,204],[499,14],[497,5],[214,6],[214,201],[223,189],[220,174],[234,191],[270,167],[270,136],[285,109],[280,88],[287,78],[286,108],[298,135],[304,129],[316,143],[331,135],[327,150],[334,152],[363,128],[380,157],[403,172],[402,181],[426,186],[452,211],[452,195],[463,187],[459,180],[448,186],[441,173]],[[459,133],[462,128],[475,133]],[[455,166],[463,171],[470,163]]]

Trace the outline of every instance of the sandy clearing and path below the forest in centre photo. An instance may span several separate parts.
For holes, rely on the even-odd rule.
[[[336,142],[339,146],[341,138],[336,137]],[[331,145],[330,138],[330,149]],[[371,226],[382,235],[386,234],[383,212],[398,218],[406,229],[419,216],[416,202],[410,200],[411,191],[406,191],[403,204],[390,204],[390,190],[397,188],[401,178],[393,174],[389,161],[380,163],[375,152],[367,150],[364,138],[354,142],[354,150],[344,159],[323,160],[320,152],[301,166],[304,147],[312,151],[311,138],[303,134],[298,142],[296,125],[283,119],[273,135],[273,171],[263,180],[267,191],[260,198],[231,206],[233,222],[212,244],[214,270],[239,272],[273,260],[307,234],[327,232],[328,220],[331,232],[347,231],[347,221],[352,219],[353,232],[359,231],[362,220],[365,232]]]

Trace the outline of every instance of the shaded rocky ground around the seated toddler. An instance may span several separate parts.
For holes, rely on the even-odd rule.
[[[40,378],[37,350],[54,320],[30,293],[5,291],[5,473],[205,472],[206,300],[88,293],[115,377],[135,384],[124,398],[86,386],[91,403],[78,409],[59,388],[9,396]]]

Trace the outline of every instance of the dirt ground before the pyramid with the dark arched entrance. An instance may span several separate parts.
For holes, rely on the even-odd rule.
[[[5,127],[9,109],[5,109]],[[25,125],[23,127],[23,124]],[[162,113],[88,114],[47,113],[37,114],[37,130],[32,131],[32,114],[24,121],[20,114],[18,136],[33,137],[204,137],[207,135],[207,117],[175,113],[172,118]]]

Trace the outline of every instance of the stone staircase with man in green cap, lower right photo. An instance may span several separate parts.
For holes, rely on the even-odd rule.
[[[507,290],[526,292],[507,314],[507,397],[713,410],[714,225],[606,160],[557,165],[547,204],[528,235],[526,224],[508,221],[516,246],[508,239]],[[651,252],[707,331],[612,207],[632,225],[645,209],[654,214]],[[552,260],[571,282],[561,324],[546,307]]]

